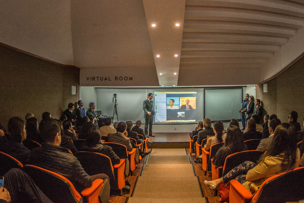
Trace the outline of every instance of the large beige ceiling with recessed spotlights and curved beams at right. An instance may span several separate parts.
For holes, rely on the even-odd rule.
[[[304,52],[303,0],[0,2],[1,43],[136,86],[260,84]]]

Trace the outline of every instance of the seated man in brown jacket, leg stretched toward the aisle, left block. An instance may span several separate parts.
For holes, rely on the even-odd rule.
[[[132,151],[133,148],[138,149],[139,154],[141,155],[142,158],[150,154],[149,152],[143,152],[141,149],[139,149],[136,146],[136,143],[133,141],[130,142],[130,138],[128,138],[128,132],[127,132],[127,124],[125,122],[119,122],[117,124],[117,131],[116,133],[109,133],[108,134],[108,142],[114,142],[114,143],[119,143],[122,145],[125,145],[127,148],[127,151],[130,152]]]

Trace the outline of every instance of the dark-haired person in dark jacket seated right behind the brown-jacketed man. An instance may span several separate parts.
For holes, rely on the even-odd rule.
[[[82,150],[88,152],[97,152],[109,156],[113,166],[117,163],[120,163],[120,159],[115,154],[115,152],[113,152],[112,147],[103,145],[100,141],[101,138],[99,131],[93,128],[88,132],[87,142]]]

